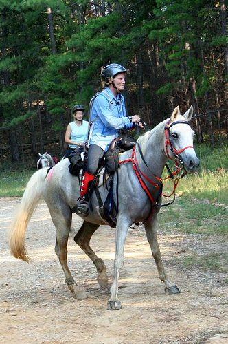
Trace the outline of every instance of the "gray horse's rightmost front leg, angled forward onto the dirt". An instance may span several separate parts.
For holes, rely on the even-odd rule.
[[[157,241],[157,228],[158,228],[158,223],[157,223],[157,215],[154,215],[152,219],[150,219],[149,222],[146,222],[144,224],[145,230],[146,230],[146,236],[148,239],[148,242],[150,244],[150,249],[152,252],[152,256],[155,258],[155,263],[157,265],[157,270],[159,272],[159,279],[163,283],[165,283],[165,292],[166,294],[177,294],[180,292],[179,288],[169,281],[165,268],[163,266],[163,262],[161,260],[161,252],[159,248],[159,243]]]

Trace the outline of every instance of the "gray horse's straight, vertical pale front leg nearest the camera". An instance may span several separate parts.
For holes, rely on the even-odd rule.
[[[108,310],[120,310],[121,308],[121,303],[118,299],[118,279],[119,272],[124,266],[124,244],[129,225],[129,222],[127,222],[126,219],[121,217],[117,219],[117,228],[115,234],[114,279],[111,286],[111,298],[107,304]]]

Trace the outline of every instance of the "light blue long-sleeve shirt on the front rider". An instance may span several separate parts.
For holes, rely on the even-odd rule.
[[[119,129],[130,129],[133,125],[126,117],[124,97],[117,94],[115,98],[109,87],[100,92],[93,101],[90,120],[93,125],[89,145],[97,144],[104,151],[109,148],[111,141],[119,136]]]

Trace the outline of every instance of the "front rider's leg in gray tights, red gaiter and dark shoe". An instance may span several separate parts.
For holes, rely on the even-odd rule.
[[[91,184],[95,177],[95,173],[98,171],[104,157],[104,151],[96,144],[91,144],[88,151],[87,171],[85,171],[82,177],[80,199],[76,206],[73,207],[73,211],[78,215],[87,215],[89,211],[89,191]]]

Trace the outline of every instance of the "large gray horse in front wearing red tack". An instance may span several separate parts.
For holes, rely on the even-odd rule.
[[[172,283],[165,272],[157,241],[157,213],[161,205],[161,174],[166,160],[171,158],[187,173],[196,171],[199,160],[193,149],[193,136],[189,121],[193,109],[181,116],[176,107],[172,116],[157,127],[148,131],[137,140],[135,149],[120,154],[119,193],[116,195],[117,178],[114,176],[113,197],[119,205],[116,223],[116,251],[114,261],[114,279],[111,286],[109,310],[119,310],[121,303],[117,297],[119,272],[124,264],[124,244],[128,228],[137,222],[143,222],[146,236],[155,259],[159,278],[165,284],[166,294],[176,294],[179,288]],[[9,233],[12,255],[29,261],[25,248],[25,230],[36,206],[45,200],[56,227],[55,252],[65,273],[65,283],[78,299],[85,297],[67,266],[67,241],[71,228],[73,206],[79,195],[78,179],[69,173],[68,159],[61,160],[47,174],[47,169],[36,171],[27,184],[18,213],[14,217]],[[46,176],[47,175],[47,176]],[[102,183],[101,183],[102,184]],[[107,190],[100,186],[100,196],[106,200]],[[91,211],[74,237],[76,243],[89,256],[98,271],[98,283],[105,287],[108,281],[106,268],[90,247],[90,239],[106,220],[100,216],[98,198],[91,195]]]

